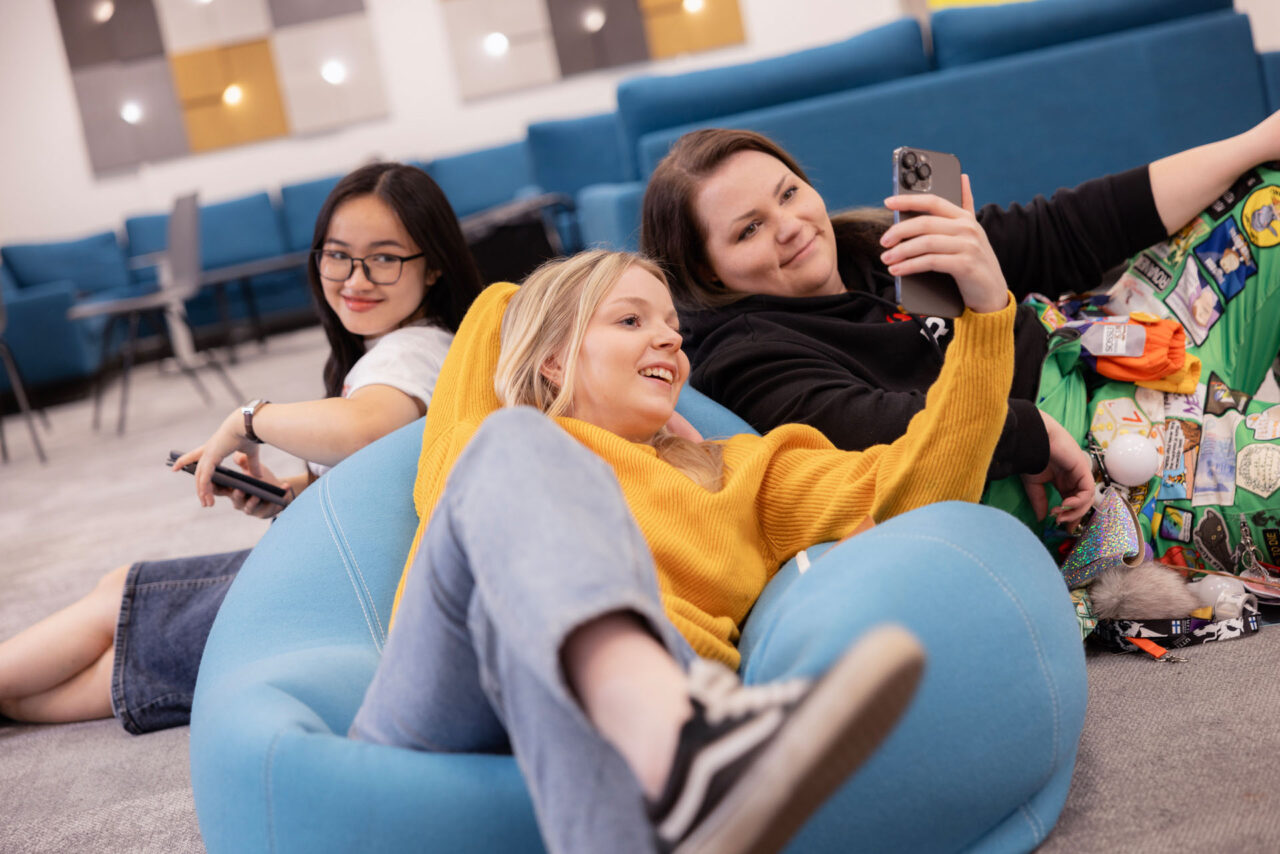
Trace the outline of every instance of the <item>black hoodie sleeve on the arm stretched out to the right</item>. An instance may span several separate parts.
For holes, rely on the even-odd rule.
[[[1050,297],[1098,287],[1102,275],[1167,237],[1147,166],[1037,196],[1028,205],[978,211],[1009,289]]]

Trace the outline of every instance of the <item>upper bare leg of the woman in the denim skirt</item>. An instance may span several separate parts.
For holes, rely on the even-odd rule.
[[[128,571],[108,572],[86,597],[0,643],[0,702],[60,686],[111,649]]]

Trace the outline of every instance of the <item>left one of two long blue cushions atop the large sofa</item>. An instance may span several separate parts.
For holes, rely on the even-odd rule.
[[[618,120],[626,150],[636,155],[635,177],[645,178],[666,154],[664,149],[658,152],[643,145],[654,132],[705,124],[717,117],[842,92],[928,69],[920,26],[913,18],[904,18],[833,45],[785,56],[622,81],[618,85]]]

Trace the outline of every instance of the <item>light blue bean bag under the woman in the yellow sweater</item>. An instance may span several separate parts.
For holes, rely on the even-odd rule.
[[[749,429],[691,389],[681,412],[707,435]],[[227,595],[191,722],[212,854],[543,850],[511,757],[344,737],[417,524],[421,431],[421,421],[403,428],[307,489]],[[1052,561],[1010,516],[964,503],[814,547],[748,620],[742,675],[819,672],[886,620],[928,649],[920,690],[791,850],[1036,848],[1066,799],[1085,704],[1079,631]]]

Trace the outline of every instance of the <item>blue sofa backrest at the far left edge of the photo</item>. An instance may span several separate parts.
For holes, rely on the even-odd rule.
[[[115,232],[99,232],[76,241],[15,243],[0,257],[19,287],[69,279],[77,291],[127,289],[131,284],[124,250]]]

